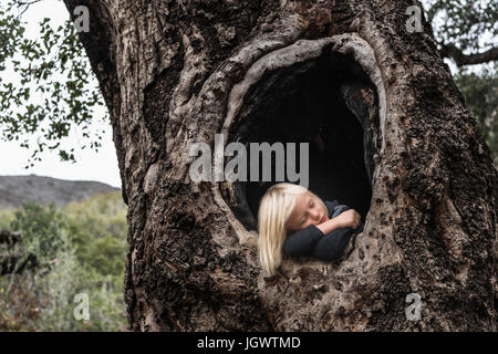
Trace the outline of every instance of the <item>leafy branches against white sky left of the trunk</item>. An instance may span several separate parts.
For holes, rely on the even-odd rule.
[[[104,104],[102,95],[73,23],[68,20],[54,29],[45,18],[39,38],[31,39],[22,21],[25,4],[0,3],[0,72],[6,72],[0,85],[1,137],[30,149],[29,166],[41,160],[45,149],[74,162],[74,143],[62,144],[72,127],[91,148],[101,147],[103,132],[91,133],[90,127],[95,122],[92,108]]]

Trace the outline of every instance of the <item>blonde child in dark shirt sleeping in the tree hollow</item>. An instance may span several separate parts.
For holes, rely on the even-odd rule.
[[[282,256],[340,259],[363,223],[354,209],[335,200],[323,202],[302,186],[281,183],[261,198],[258,228],[260,263],[274,274]]]

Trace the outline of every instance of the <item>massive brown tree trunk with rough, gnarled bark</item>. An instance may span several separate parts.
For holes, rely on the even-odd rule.
[[[90,9],[80,38],[111,113],[131,330],[497,330],[497,171],[432,29],[407,31],[413,1],[65,3]],[[269,277],[270,184],[195,183],[189,148],[317,132],[310,189],[365,228],[340,263]]]

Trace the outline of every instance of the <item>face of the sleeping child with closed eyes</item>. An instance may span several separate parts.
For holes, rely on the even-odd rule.
[[[328,210],[323,209],[317,198],[303,192],[297,197],[294,209],[292,209],[286,227],[289,232],[292,232],[326,220],[329,220]]]

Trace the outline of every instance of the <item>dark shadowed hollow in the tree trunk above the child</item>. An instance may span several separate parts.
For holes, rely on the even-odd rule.
[[[356,209],[365,221],[378,156],[378,97],[369,75],[353,59],[326,45],[318,58],[264,73],[247,91],[230,125],[228,142],[246,146],[248,171],[247,181],[231,184],[235,198],[222,191],[227,204],[246,229],[256,230],[259,201],[270,186],[304,185],[300,144],[308,143],[307,187],[324,200]],[[270,180],[263,179],[264,156],[253,156],[251,143],[282,144],[284,155],[271,153]],[[295,143],[293,169],[301,180],[289,179],[287,143]],[[283,180],[276,173],[282,156]],[[251,178],[251,160],[259,160],[257,180]]]

